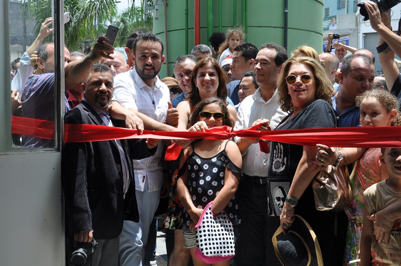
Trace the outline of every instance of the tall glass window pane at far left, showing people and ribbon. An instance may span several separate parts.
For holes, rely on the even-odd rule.
[[[52,10],[51,2],[52,1],[46,2],[49,10]],[[60,43],[56,42],[57,27],[55,27],[53,33],[50,35],[48,34],[49,36],[47,38],[38,37],[39,35],[34,29],[35,26],[42,24],[46,18],[52,16],[52,14],[48,12],[48,14],[39,18],[40,16],[34,14],[33,4],[28,4],[28,2],[24,4],[21,1],[9,0],[8,7],[10,20],[9,25],[6,27],[9,28],[10,39],[7,39],[8,44],[6,47],[10,47],[7,49],[10,58],[10,61],[7,62],[10,72],[7,72],[8,77],[4,79],[5,81],[7,80],[4,87],[11,91],[11,96],[15,97],[7,97],[8,103],[5,106],[9,116],[5,123],[9,125],[13,124],[14,130],[18,130],[19,133],[10,134],[11,129],[8,128],[9,133],[3,135],[2,140],[5,141],[6,145],[2,150],[22,150],[24,147],[34,147],[37,149],[29,150],[34,151],[39,148],[42,150],[54,151],[60,146],[60,121],[62,121],[60,104],[64,104],[64,101],[61,101],[61,99],[64,100],[64,94],[62,96],[59,95],[62,91],[60,89],[60,84],[64,82],[60,82],[60,70],[54,68],[54,66],[60,66],[60,62],[64,62],[61,61],[60,54],[60,47],[62,46],[56,45]],[[49,27],[51,28],[53,25]],[[61,34],[64,33],[61,32]],[[61,36],[61,34],[58,33],[57,35]],[[6,34],[4,34],[4,36],[6,36]],[[43,36],[43,34],[40,36]],[[35,45],[33,45],[34,41]],[[50,52],[48,54],[47,49],[39,49],[40,45],[46,42],[50,42],[50,45],[48,45],[49,47],[55,47],[49,50],[52,54],[50,54]],[[54,43],[54,45],[52,43]],[[38,64],[34,67],[31,65],[30,58],[35,51],[38,51],[38,53],[43,55],[43,58],[46,59],[41,61],[43,64]],[[40,56],[40,58],[42,58],[42,56]],[[34,75],[34,73],[36,75]],[[44,73],[54,74],[40,75]],[[19,99],[17,95],[20,96]],[[9,110],[11,110],[12,115],[14,115],[12,118]],[[33,123],[33,121],[29,119],[46,120],[50,121],[50,123],[41,123],[39,125],[35,124],[38,123],[38,121]],[[42,127],[43,129],[40,129]]]

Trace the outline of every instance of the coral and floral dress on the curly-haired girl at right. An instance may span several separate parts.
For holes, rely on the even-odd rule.
[[[360,248],[360,236],[362,234],[365,197],[363,191],[371,185],[381,181],[380,174],[380,148],[368,149],[350,174],[352,189],[352,205],[345,209],[348,220],[348,230],[345,247],[345,264],[356,259]]]

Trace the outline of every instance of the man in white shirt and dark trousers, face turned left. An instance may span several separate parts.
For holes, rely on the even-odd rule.
[[[258,130],[273,130],[287,115],[278,103],[276,79],[287,51],[275,43],[261,46],[255,60],[255,77],[259,89],[245,98],[239,109],[234,130],[262,122]],[[261,120],[263,118],[263,120]],[[272,211],[267,192],[267,163],[269,154],[260,150],[259,140],[237,138],[243,155],[243,178],[238,186],[240,237],[236,243],[237,265],[269,265],[266,257],[267,217]]]

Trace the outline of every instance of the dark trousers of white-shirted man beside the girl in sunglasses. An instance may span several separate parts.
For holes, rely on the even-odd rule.
[[[240,236],[236,243],[235,264],[273,265],[266,257],[268,194],[267,185],[242,177],[237,191]]]

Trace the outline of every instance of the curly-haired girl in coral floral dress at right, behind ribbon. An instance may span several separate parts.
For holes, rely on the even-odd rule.
[[[356,105],[360,108],[359,121],[362,127],[388,127],[401,125],[398,114],[397,98],[387,90],[375,89],[366,91],[356,97]],[[352,205],[345,209],[348,220],[348,230],[345,247],[344,263],[358,258],[360,238],[363,227],[365,198],[363,191],[371,185],[388,177],[387,168],[379,160],[380,148],[341,148],[336,151],[322,144],[317,144],[316,162],[319,165],[340,165],[354,163],[350,174],[352,189]],[[339,160],[343,157],[342,160]],[[341,159],[341,158],[340,158]],[[341,162],[340,162],[341,161]],[[339,165],[339,166],[340,166]]]

